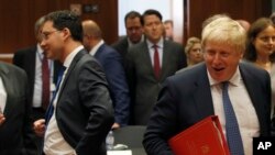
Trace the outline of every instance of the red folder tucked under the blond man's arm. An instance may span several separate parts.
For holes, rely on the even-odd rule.
[[[230,155],[217,115],[208,117],[168,141],[175,155]]]

